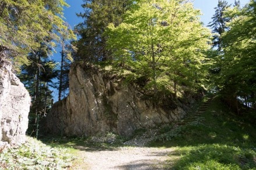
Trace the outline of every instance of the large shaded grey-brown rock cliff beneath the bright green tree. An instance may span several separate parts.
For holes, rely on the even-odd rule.
[[[69,78],[69,96],[55,103],[47,116],[48,132],[88,136],[112,131],[130,136],[136,129],[180,120],[186,115],[171,103],[154,108],[136,88],[92,66],[72,68]]]

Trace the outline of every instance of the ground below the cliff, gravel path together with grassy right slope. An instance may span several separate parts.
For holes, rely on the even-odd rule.
[[[140,129],[129,140],[109,133],[46,143],[69,148],[76,157],[70,169],[256,169],[255,117],[205,99],[184,120]]]

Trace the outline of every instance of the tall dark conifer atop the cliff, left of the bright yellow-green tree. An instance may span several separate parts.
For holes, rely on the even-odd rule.
[[[118,26],[122,22],[128,0],[84,0],[84,13],[77,16],[84,19],[75,30],[81,36],[76,42],[80,59],[98,62],[111,56],[105,48],[106,39],[102,35],[109,23]]]

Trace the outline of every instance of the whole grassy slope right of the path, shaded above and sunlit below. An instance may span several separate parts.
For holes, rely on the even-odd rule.
[[[246,117],[216,97],[198,120],[163,128],[150,146],[175,147],[166,169],[256,169],[256,129]]]

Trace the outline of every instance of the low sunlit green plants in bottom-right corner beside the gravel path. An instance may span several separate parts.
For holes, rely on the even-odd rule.
[[[225,144],[201,144],[177,149],[180,159],[172,169],[255,169],[253,149]],[[182,153],[185,153],[184,155]]]

